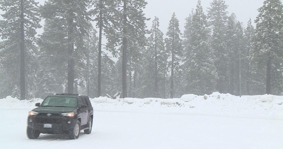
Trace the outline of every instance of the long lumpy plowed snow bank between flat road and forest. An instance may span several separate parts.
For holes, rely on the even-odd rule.
[[[181,98],[91,98],[95,110],[128,110],[145,112],[182,112],[201,114],[244,114],[283,117],[283,96],[255,95],[234,96],[231,94],[183,95]],[[18,100],[7,96],[0,99],[0,108],[34,108],[40,98]]]

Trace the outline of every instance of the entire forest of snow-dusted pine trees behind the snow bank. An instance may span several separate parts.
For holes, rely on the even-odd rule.
[[[0,98],[283,93],[280,0],[263,2],[256,26],[251,19],[244,26],[224,0],[211,0],[207,12],[198,0],[185,24],[175,12],[167,16],[164,33],[158,16],[145,17],[146,6],[145,0],[0,0]]]

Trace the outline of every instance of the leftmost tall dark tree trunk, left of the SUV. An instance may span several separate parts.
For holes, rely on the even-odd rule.
[[[24,35],[24,16],[23,16],[23,0],[21,0],[21,23],[20,23],[20,86],[21,86],[21,98],[25,100],[25,35]]]

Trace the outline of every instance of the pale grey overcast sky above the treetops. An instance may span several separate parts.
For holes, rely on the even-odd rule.
[[[44,0],[35,0],[40,4],[44,4]],[[180,30],[183,33],[185,18],[190,14],[192,8],[196,8],[197,0],[145,0],[147,1],[146,8],[144,9],[145,16],[151,18],[147,21],[147,28],[150,29],[151,21],[154,16],[157,16],[160,21],[160,30],[164,33],[167,32],[167,27],[169,20],[173,12],[176,13],[179,19]],[[264,0],[226,0],[226,5],[228,5],[228,15],[235,13],[237,20],[243,22],[244,25],[247,24],[248,20],[251,18],[254,24],[254,19],[258,15],[257,9],[263,5]],[[282,0],[281,0],[282,1]],[[202,7],[207,13],[207,7],[210,7],[212,0],[202,0]],[[0,13],[3,13],[0,11]],[[0,19],[2,17],[0,16]],[[43,22],[41,22],[43,25]],[[255,25],[255,24],[254,24]],[[43,29],[38,29],[37,33],[41,34]]]

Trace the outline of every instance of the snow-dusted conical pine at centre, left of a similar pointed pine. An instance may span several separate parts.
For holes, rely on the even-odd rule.
[[[164,81],[167,73],[167,58],[163,33],[159,29],[159,19],[152,21],[150,36],[143,60],[142,92],[147,97],[164,97]]]

